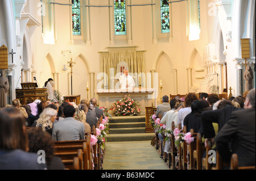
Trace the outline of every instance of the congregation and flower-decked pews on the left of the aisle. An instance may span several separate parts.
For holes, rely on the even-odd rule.
[[[100,170],[108,117],[97,100],[0,108],[0,170]]]

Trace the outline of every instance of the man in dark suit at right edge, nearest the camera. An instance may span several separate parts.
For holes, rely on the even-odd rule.
[[[228,143],[232,142],[229,149]],[[238,155],[238,166],[255,166],[255,89],[245,100],[244,110],[234,111],[216,136],[216,147],[223,161]]]

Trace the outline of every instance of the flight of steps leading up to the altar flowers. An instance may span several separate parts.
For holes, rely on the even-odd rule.
[[[146,116],[120,116],[109,120],[108,142],[147,141],[154,133],[146,133]]]

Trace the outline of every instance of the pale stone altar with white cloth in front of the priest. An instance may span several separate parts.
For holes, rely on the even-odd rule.
[[[98,95],[98,104],[100,107],[110,108],[113,106],[113,103],[117,100],[120,100],[125,97],[125,95],[129,96],[135,100],[135,102],[139,103],[139,108],[141,108],[142,115],[146,115],[147,106],[156,105],[156,91],[155,89],[133,89],[133,90],[121,90],[121,89],[110,89],[110,90],[95,90],[94,91]]]

